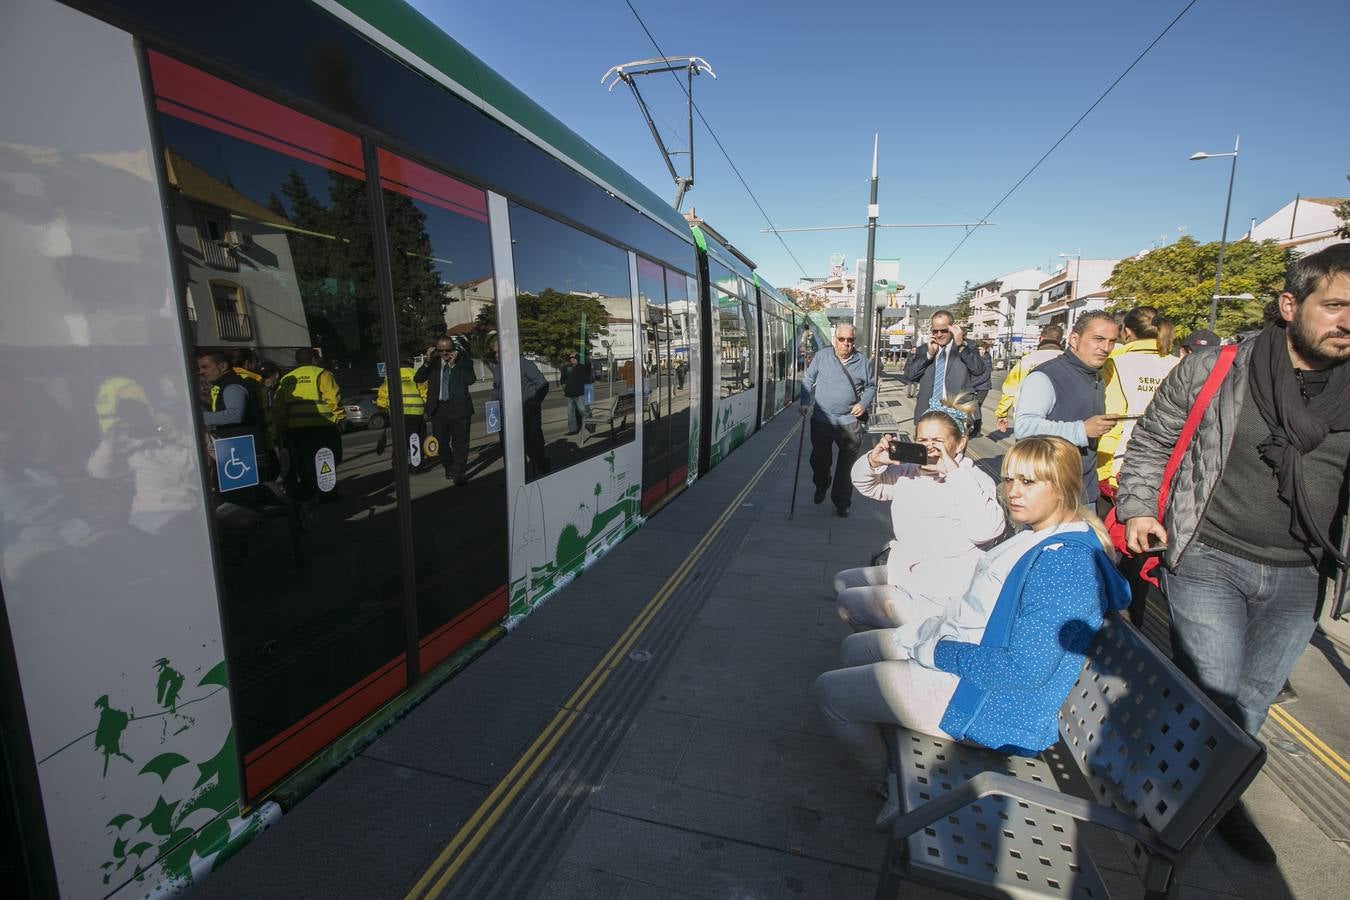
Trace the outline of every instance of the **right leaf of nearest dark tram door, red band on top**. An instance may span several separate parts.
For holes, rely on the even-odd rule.
[[[379,177],[400,356],[390,383],[402,394],[409,447],[418,663],[425,672],[482,629],[477,614],[464,617],[467,623],[456,617],[470,610],[491,617],[498,594],[505,607],[506,468],[502,441],[487,422],[487,322],[497,313],[491,236],[482,190],[383,150]],[[464,405],[451,401],[448,378],[443,401],[439,364],[424,359],[447,332],[456,362],[467,356],[474,372]]]

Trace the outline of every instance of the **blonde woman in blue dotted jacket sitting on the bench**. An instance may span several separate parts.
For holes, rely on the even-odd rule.
[[[1025,530],[980,560],[961,603],[923,622],[850,634],[844,668],[815,680],[826,723],[869,781],[886,776],[878,723],[1007,753],[1052,745],[1103,617],[1130,602],[1111,541],[1081,505],[1076,447],[1018,441],[1003,461],[1003,490]]]

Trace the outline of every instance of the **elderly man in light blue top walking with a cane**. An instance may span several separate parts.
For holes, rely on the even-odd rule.
[[[815,354],[802,376],[801,412],[802,416],[811,417],[811,480],[815,483],[813,502],[822,502],[828,493],[840,518],[848,517],[848,507],[853,502],[849,470],[863,445],[867,407],[876,397],[876,383],[867,358],[853,347],[855,335],[852,325],[837,327],[834,352]],[[832,459],[836,447],[838,456]]]

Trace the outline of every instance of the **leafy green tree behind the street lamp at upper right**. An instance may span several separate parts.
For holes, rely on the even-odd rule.
[[[1191,236],[1134,259],[1122,259],[1106,281],[1116,300],[1111,309],[1154,306],[1170,318],[1181,333],[1210,327],[1210,297],[1219,243],[1202,244]],[[1219,301],[1215,331],[1231,337],[1239,331],[1260,328],[1266,300],[1284,285],[1284,273],[1293,259],[1291,251],[1273,240],[1238,240],[1223,254],[1224,294],[1253,294],[1256,300]]]

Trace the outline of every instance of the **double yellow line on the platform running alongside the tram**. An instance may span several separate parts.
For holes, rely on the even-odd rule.
[[[544,760],[548,758],[549,753],[567,733],[567,730],[576,721],[578,715],[586,708],[586,704],[591,700],[595,692],[601,688],[609,673],[618,668],[618,663],[628,650],[637,641],[641,633],[647,629],[651,621],[660,613],[662,607],[675,592],[676,588],[683,583],[684,578],[688,575],[690,569],[698,563],[703,556],[703,552],[709,548],[717,534],[726,525],[728,519],[740,509],[741,502],[745,499],[747,494],[759,483],[768,471],[768,467],[778,457],[778,453],[783,447],[791,440],[792,429],[783,437],[778,447],[770,453],[770,457],[764,460],[759,471],[745,483],[745,487],[726,505],[722,514],[713,522],[713,526],[707,530],[703,538],[694,545],[694,549],[684,557],[676,569],[671,573],[666,583],[662,584],[660,590],[652,596],[652,599],[643,607],[637,617],[629,623],[622,634],[610,645],[609,650],[601,657],[599,663],[587,673],[578,688],[563,704],[563,708],[544,726],[544,730],[531,742],[531,745],[521,753],[520,758],[516,760],[510,770],[502,777],[501,781],[493,788],[486,799],[479,804],[468,820],[455,833],[450,839],[450,843],[436,854],[436,860],[423,872],[421,877],[406,895],[406,900],[418,900],[420,897],[435,897],[439,896],[441,891],[450,884],[450,880],[455,877],[460,868],[468,861],[474,850],[482,843],[487,837],[487,833],[497,824],[506,810],[516,800],[529,780],[535,776],[535,772],[543,765]],[[441,870],[440,877],[436,873]],[[435,878],[435,881],[432,881]],[[429,885],[429,888],[428,888]]]

